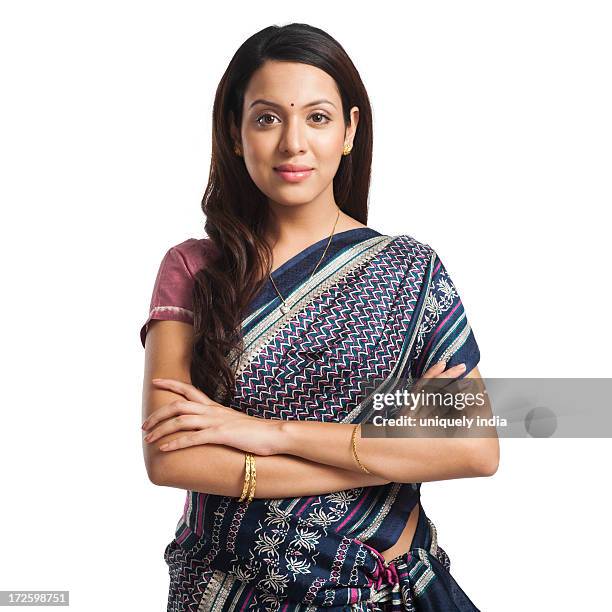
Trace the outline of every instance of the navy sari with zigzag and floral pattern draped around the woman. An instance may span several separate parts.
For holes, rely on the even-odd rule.
[[[434,363],[480,353],[461,299],[437,253],[408,235],[356,228],[307,247],[268,279],[242,322],[244,350],[230,355],[229,404],[270,419],[365,422],[365,384],[416,380]],[[163,307],[157,307],[163,308]],[[184,309],[183,309],[184,310]],[[239,502],[187,491],[166,546],[168,611],[470,611],[450,574],[421,483],[387,483],[308,497]],[[413,508],[410,550],[385,562]]]

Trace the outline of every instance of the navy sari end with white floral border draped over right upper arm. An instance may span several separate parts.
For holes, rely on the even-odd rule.
[[[467,319],[461,297],[446,267],[432,249],[419,296],[422,318],[411,361],[411,378],[417,379],[439,361],[446,369],[465,363],[463,378],[480,361],[480,350]],[[416,312],[420,310],[417,308]]]

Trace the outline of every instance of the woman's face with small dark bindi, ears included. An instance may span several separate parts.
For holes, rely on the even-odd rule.
[[[353,144],[359,109],[351,109],[346,127],[332,77],[308,64],[267,61],[249,82],[242,112],[234,138],[253,182],[271,203],[333,202],[333,178],[345,144]],[[275,169],[282,164],[313,170],[300,180]]]

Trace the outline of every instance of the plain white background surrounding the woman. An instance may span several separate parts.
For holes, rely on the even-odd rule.
[[[610,376],[606,2],[3,2],[0,589],[165,610],[184,492],[146,477],[146,318],[203,236],[214,92],[250,35],[307,22],[374,108],[368,225],[431,244],[489,377]],[[492,478],[425,483],[482,610],[609,598],[610,440],[502,440]]]

